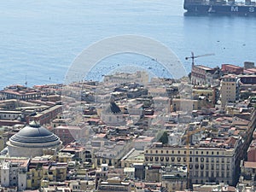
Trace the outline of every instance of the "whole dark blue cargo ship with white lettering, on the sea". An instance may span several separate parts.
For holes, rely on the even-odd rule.
[[[195,14],[256,15],[256,3],[251,0],[184,0],[183,8]]]

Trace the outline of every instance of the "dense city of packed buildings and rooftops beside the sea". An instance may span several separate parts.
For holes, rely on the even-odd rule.
[[[0,91],[1,189],[253,189],[253,70],[248,62],[194,65],[189,79],[148,82],[137,72],[103,82],[11,85]]]

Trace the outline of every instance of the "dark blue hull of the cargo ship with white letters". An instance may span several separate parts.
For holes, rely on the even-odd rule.
[[[189,13],[198,14],[231,14],[231,15],[256,15],[256,6],[247,5],[209,5],[184,3],[183,8]]]

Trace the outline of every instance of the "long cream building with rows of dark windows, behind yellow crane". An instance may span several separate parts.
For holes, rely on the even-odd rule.
[[[231,144],[235,146],[232,148]],[[240,160],[236,155],[239,141],[224,147],[163,147],[156,143],[145,149],[145,164],[187,165],[191,183],[236,183]]]

